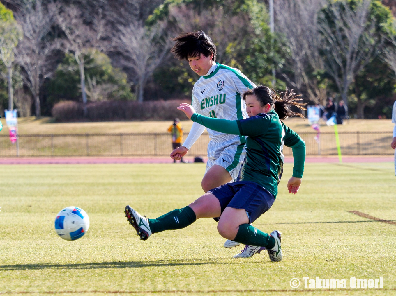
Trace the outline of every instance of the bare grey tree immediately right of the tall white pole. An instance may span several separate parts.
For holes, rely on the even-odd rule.
[[[304,89],[310,100],[321,104],[326,100],[326,87],[319,85],[317,77],[309,73],[324,70],[317,19],[326,3],[324,0],[274,1],[275,30],[280,42],[286,44],[286,68],[292,70],[290,74],[282,72],[282,76],[298,93]]]

